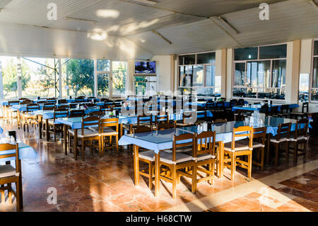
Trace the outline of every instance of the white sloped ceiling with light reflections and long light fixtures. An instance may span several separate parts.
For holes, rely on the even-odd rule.
[[[318,37],[318,11],[307,0],[1,0],[0,23],[107,33],[132,40],[153,55],[217,50]],[[47,19],[47,4],[57,4],[57,21]],[[259,4],[270,4],[270,20],[259,20]],[[208,17],[221,15],[240,34],[231,34]],[[81,18],[96,23],[70,21]],[[165,42],[158,30],[172,42]],[[144,42],[141,42],[144,40]],[[137,56],[138,57],[138,56]]]

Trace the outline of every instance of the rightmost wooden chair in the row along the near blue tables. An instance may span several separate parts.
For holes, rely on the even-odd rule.
[[[307,153],[307,139],[308,139],[308,120],[307,118],[302,118],[297,121],[295,126],[295,131],[290,132],[289,141],[293,144],[293,147],[288,147],[288,157],[289,154],[293,154],[293,163],[297,164],[297,159],[299,156],[303,156],[303,162],[306,162]],[[303,144],[303,149],[299,149],[299,145]]]

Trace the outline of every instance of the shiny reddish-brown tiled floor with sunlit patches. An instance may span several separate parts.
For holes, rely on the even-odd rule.
[[[16,130],[15,126],[2,121],[0,126],[4,130]],[[40,140],[33,128],[28,133],[17,131],[19,139],[38,152],[38,159],[22,161],[24,211],[318,210],[318,164],[312,161],[318,159],[318,141],[314,137],[308,144],[308,166],[303,165],[302,158],[299,158],[298,167],[294,167],[291,161],[289,164],[281,162],[278,167],[266,166],[264,171],[255,166],[250,182],[244,170],[237,171],[235,182],[228,179],[230,171],[225,170],[223,179],[216,177],[214,186],[199,183],[196,194],[190,191],[191,181],[182,179],[177,188],[177,198],[172,199],[169,183],[161,182],[158,198],[153,196],[154,190],[149,190],[146,179],[141,179],[140,186],[134,186],[133,156],[127,149],[118,155],[108,151],[102,159],[96,155],[95,158],[90,157],[87,151],[85,162],[75,161],[73,154],[64,155],[61,140]],[[261,180],[259,187],[253,186]],[[278,183],[267,183],[275,180]],[[51,187],[57,189],[56,205],[47,203],[47,189]],[[236,195],[230,196],[230,192]],[[6,198],[0,210],[15,211],[15,202],[10,205]]]

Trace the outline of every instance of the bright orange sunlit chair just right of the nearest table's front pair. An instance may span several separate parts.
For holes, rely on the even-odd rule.
[[[237,137],[247,137],[248,145],[245,141],[236,140]],[[233,128],[232,142],[224,144],[224,154],[228,158],[224,158],[223,169],[228,167],[231,170],[231,181],[234,181],[234,174],[236,166],[247,169],[247,177],[250,179],[252,176],[252,151],[253,151],[253,128],[249,126],[241,126]],[[247,162],[237,158],[247,156]],[[230,163],[230,164],[229,164]]]

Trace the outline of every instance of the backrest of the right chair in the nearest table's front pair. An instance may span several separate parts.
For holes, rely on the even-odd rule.
[[[200,154],[215,154],[216,147],[216,131],[201,132],[196,135],[196,151],[194,152],[194,158]]]

